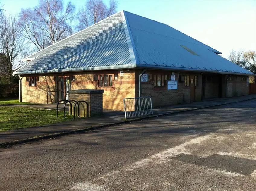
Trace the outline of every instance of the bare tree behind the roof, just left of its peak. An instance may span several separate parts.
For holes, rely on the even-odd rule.
[[[110,0],[107,6],[102,0],[88,0],[77,14],[77,30],[85,29],[116,13],[117,1]]]

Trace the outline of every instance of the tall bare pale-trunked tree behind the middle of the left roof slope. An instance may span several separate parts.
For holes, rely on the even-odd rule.
[[[64,8],[63,0],[40,0],[38,6],[21,10],[19,25],[36,49],[44,49],[72,34],[74,11],[71,2]]]

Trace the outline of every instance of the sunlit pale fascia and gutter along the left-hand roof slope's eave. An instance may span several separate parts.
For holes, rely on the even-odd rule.
[[[81,68],[64,68],[64,69],[53,69],[53,70],[35,70],[35,71],[24,71],[24,72],[14,72],[13,74],[46,74],[46,73],[56,73],[56,72],[79,72],[79,71],[91,71],[91,70],[115,70],[115,69],[126,69],[126,68],[136,68],[136,64],[124,64],[124,65],[114,65],[114,66],[96,66],[96,67],[81,67]]]

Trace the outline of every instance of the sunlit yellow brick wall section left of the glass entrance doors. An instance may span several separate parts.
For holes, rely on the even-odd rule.
[[[53,76],[39,76],[36,86],[29,86],[24,76],[21,80],[22,102],[30,103],[47,103],[47,92],[56,91],[57,83]],[[50,92],[48,94],[48,103],[57,102],[57,92]]]

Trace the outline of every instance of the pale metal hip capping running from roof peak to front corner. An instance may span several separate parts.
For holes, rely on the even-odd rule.
[[[135,44],[133,41],[133,36],[132,36],[130,26],[129,26],[129,23],[128,23],[128,20],[126,17],[126,13],[124,10],[122,10],[121,13],[122,13],[123,25],[124,25],[124,29],[125,29],[125,34],[126,34],[126,39],[127,39],[127,43],[128,43],[128,48],[129,48],[132,64],[139,64],[139,60],[138,60],[138,57],[136,54]]]

